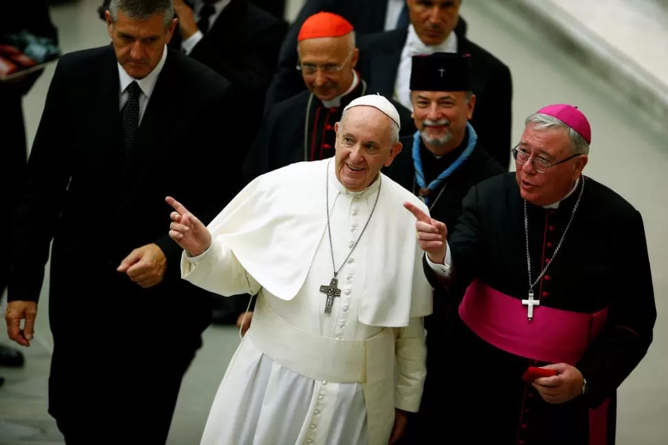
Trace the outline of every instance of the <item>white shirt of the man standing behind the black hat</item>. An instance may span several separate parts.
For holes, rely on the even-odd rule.
[[[399,61],[393,94],[395,101],[404,105],[408,110],[413,111],[413,103],[410,101],[410,70],[413,67],[413,56],[434,54],[435,52],[457,52],[457,35],[455,32],[450,32],[448,38],[440,45],[428,46],[422,43],[413,25],[408,25],[408,37],[404,50],[401,51],[401,60]]]

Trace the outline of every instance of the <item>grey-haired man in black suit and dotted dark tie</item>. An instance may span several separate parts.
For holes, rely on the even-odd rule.
[[[6,320],[29,346],[53,239],[50,414],[67,444],[164,444],[211,318],[209,293],[180,279],[165,197],[208,220],[233,196],[225,181],[238,166],[209,141],[215,129],[233,147],[233,98],[228,81],[167,48],[171,0],[109,8],[112,45],[66,54],[50,85],[14,225]]]

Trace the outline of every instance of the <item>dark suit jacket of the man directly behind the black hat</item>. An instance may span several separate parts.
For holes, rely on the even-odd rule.
[[[394,30],[370,34],[359,39],[357,69],[377,87],[378,92],[392,97],[408,34]],[[502,167],[510,165],[512,144],[512,79],[503,62],[466,37],[458,37],[457,52],[470,54],[472,63],[472,91],[476,105],[470,123],[475,128],[480,144]]]

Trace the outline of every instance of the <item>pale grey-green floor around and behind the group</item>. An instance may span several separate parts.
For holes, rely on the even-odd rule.
[[[108,43],[105,26],[96,18],[97,0],[80,0],[52,9],[65,52]],[[291,0],[294,17],[301,0]],[[592,78],[568,54],[543,38],[540,30],[514,17],[496,1],[465,1],[462,15],[469,37],[497,54],[510,66],[514,79],[513,135],[519,138],[523,118],[542,105],[566,102],[578,105],[592,122],[593,144],[586,173],[613,187],[640,210],[645,220],[649,254],[654,270],[658,305],[655,341],[647,358],[620,387],[619,445],[668,443],[668,130],[640,116],[615,91]],[[54,67],[25,98],[28,138],[32,141]],[[666,132],[662,132],[662,131]],[[624,263],[633,258],[620,258]],[[47,276],[48,279],[48,276]],[[46,413],[47,381],[52,339],[49,335],[48,296],[43,288],[36,341],[25,349],[24,369],[1,369],[7,382],[0,389],[0,445],[61,445],[62,437]],[[629,296],[633,298],[633,296]],[[6,342],[0,329],[0,342]],[[234,329],[211,327],[203,348],[187,373],[169,435],[169,445],[198,444],[209,406],[238,344]]]

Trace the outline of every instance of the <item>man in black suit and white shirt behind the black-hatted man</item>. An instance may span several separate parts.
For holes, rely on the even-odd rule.
[[[512,122],[512,79],[508,66],[455,30],[461,0],[407,0],[410,26],[359,39],[359,72],[380,94],[412,110],[410,64],[414,55],[470,54],[472,91],[477,97],[471,124],[482,145],[508,169]]]

